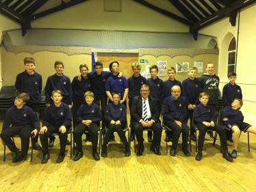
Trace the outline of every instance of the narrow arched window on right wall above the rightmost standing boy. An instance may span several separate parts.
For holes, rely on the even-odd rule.
[[[229,43],[228,49],[228,63],[227,63],[227,73],[235,72],[235,50],[236,49],[236,42],[235,37],[233,37]]]

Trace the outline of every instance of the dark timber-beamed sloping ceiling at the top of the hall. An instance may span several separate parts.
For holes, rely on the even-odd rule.
[[[92,0],[1,0],[0,14],[16,21],[23,29],[31,28],[31,20],[53,14],[70,8],[79,3]],[[103,0],[105,2],[110,0]],[[122,0],[115,0],[120,1]],[[206,27],[222,18],[229,17],[232,26],[235,26],[238,11],[256,0],[132,0],[175,19],[190,27],[194,39],[199,29]]]

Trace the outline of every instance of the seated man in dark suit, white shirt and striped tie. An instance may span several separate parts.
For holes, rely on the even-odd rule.
[[[141,156],[144,151],[143,135],[144,128],[151,128],[153,130],[153,141],[150,150],[157,155],[160,155],[159,146],[162,135],[162,126],[159,120],[159,108],[157,107],[157,100],[149,96],[149,85],[142,85],[140,87],[140,96],[133,98],[131,104],[131,126],[139,143],[139,150],[137,156]]]

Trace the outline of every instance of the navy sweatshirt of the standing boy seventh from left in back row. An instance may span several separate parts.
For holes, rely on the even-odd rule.
[[[157,102],[164,101],[164,81],[162,79],[159,79],[158,77],[156,79],[153,79],[152,77],[149,79],[146,79],[146,85],[149,85],[149,96],[155,98]]]

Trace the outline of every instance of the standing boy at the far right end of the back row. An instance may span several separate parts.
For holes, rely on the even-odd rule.
[[[222,99],[224,102],[224,107],[231,107],[231,104],[235,98],[242,99],[241,87],[235,84],[236,73],[229,72],[228,74],[229,83],[227,83],[222,90]],[[227,140],[233,142],[232,131],[226,131]]]

